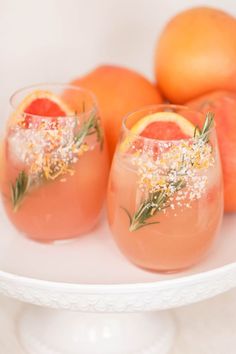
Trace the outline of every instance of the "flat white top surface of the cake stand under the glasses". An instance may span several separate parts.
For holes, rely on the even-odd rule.
[[[67,243],[40,244],[20,235],[0,204],[0,270],[23,277],[77,284],[149,283],[212,271],[235,262],[236,215],[226,215],[210,254],[194,268],[160,275],[133,266],[117,249],[105,221]]]

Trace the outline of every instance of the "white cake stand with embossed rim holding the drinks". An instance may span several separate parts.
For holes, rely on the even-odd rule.
[[[165,354],[167,311],[236,286],[236,215],[224,218],[208,258],[176,275],[138,269],[105,222],[69,243],[43,245],[14,230],[0,204],[0,292],[27,305],[19,339],[30,354]]]

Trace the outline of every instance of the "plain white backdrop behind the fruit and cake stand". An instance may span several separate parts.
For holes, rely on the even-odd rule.
[[[0,0],[1,117],[14,90],[66,82],[100,63],[125,65],[153,79],[153,51],[161,28],[178,11],[200,4],[236,15],[236,0]],[[235,354],[235,304],[236,290],[178,310],[183,330],[171,353]],[[0,297],[4,354],[21,353],[13,324],[6,322],[12,306]]]

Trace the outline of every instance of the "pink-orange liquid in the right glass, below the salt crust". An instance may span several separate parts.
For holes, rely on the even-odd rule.
[[[215,167],[216,168],[216,167]],[[113,161],[108,187],[108,218],[115,241],[134,264],[160,272],[173,272],[197,263],[207,253],[219,229],[222,210],[222,183],[217,171],[209,170],[206,192],[200,199],[174,209],[158,212],[148,225],[129,231],[129,218],[137,210],[135,168],[118,154]]]

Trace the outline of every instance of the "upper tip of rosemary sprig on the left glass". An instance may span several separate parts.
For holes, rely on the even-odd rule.
[[[83,122],[81,129],[75,136],[75,143],[79,147],[83,144],[86,136],[93,135],[93,134],[97,135],[97,142],[100,143],[100,149],[102,150],[103,134],[100,127],[100,123],[98,118],[94,114],[91,114],[90,118],[87,121]]]

